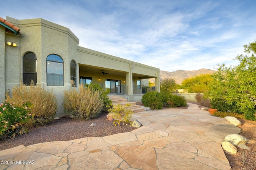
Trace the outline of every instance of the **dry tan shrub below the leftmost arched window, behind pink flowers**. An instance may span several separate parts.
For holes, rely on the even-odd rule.
[[[45,90],[39,83],[34,86],[22,84],[12,88],[12,97],[6,94],[7,101],[22,106],[23,103],[32,104],[32,119],[35,123],[49,123],[57,111],[57,99],[53,91]]]

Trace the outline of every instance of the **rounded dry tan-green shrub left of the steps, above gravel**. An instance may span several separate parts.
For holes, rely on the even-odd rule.
[[[76,89],[65,90],[63,106],[65,113],[71,118],[91,119],[101,113],[103,99],[100,92],[93,88],[86,88],[83,84]]]

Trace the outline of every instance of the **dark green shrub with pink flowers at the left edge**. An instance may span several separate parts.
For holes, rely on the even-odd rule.
[[[0,138],[14,138],[16,134],[27,132],[27,128],[32,125],[28,104],[24,103],[21,107],[10,102],[0,104]]]

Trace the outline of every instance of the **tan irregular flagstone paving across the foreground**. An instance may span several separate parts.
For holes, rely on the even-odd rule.
[[[188,109],[142,111],[133,119],[142,127],[128,133],[1,150],[0,160],[15,164],[0,169],[231,170],[221,142],[240,128],[224,118],[188,103]]]

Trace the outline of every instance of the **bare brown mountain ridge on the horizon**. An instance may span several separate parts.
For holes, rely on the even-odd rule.
[[[181,84],[181,82],[190,77],[199,76],[200,74],[212,74],[216,72],[215,70],[210,69],[199,69],[193,71],[186,71],[186,70],[176,70],[176,71],[162,71],[160,70],[160,81],[165,78],[173,78],[177,84]],[[155,82],[154,78],[149,79],[150,82]]]

